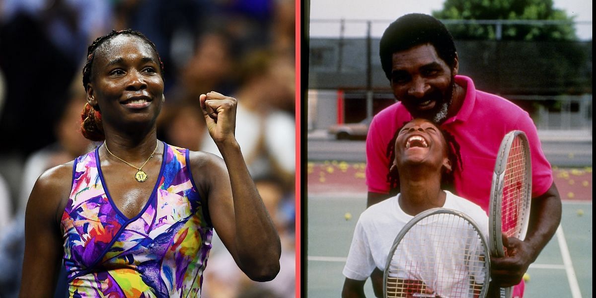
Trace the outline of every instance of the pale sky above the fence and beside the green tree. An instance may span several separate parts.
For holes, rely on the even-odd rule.
[[[373,20],[371,33],[381,36],[390,21],[407,13],[431,14],[433,10],[443,8],[444,0],[311,0],[311,36],[337,37],[339,23],[319,23],[313,20]],[[576,33],[581,40],[592,39],[592,1],[591,0],[554,0],[554,7],[566,11],[568,16],[575,16]],[[378,20],[378,21],[374,21]],[[381,21],[384,20],[384,21]],[[346,22],[346,37],[362,37],[367,32],[364,22]]]

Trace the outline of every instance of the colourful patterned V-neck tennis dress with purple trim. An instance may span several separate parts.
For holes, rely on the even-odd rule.
[[[188,167],[188,150],[164,143],[145,207],[126,218],[110,197],[98,148],[78,157],[64,210],[70,297],[200,297],[213,229]]]

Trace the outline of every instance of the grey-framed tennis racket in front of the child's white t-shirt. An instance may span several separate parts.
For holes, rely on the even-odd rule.
[[[383,275],[384,297],[485,297],[488,256],[482,232],[467,215],[426,210],[393,242]]]

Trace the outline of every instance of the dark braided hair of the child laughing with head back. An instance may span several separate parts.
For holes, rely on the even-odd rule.
[[[409,122],[409,121],[408,121]],[[395,140],[398,138],[399,132],[402,130],[403,126],[406,125],[408,122],[403,122],[402,126],[397,129],[389,144],[387,144],[387,151],[386,156],[389,157],[389,173],[387,173],[387,182],[389,182],[389,193],[391,195],[396,195],[400,191],[399,185],[399,172],[397,169],[391,170],[393,160],[395,160]],[[455,137],[445,129],[439,128],[436,123],[433,125],[439,129],[441,135],[443,135],[443,139],[445,139],[445,144],[447,145],[447,159],[451,161],[451,171],[447,171],[445,169],[442,170],[441,175],[441,189],[448,190],[454,193],[455,185],[454,185],[454,172],[458,168],[461,170],[464,169],[463,164],[461,163],[461,154],[460,154],[460,144],[455,141]]]

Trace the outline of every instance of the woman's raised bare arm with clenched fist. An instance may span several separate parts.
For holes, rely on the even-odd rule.
[[[194,159],[195,169],[205,169],[197,175],[206,175],[213,226],[249,278],[272,280],[280,271],[280,237],[234,136],[237,101],[216,92],[201,95],[200,100],[209,134],[224,158],[201,153],[206,162]]]

